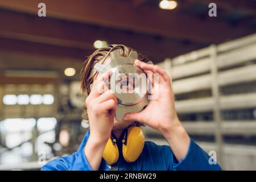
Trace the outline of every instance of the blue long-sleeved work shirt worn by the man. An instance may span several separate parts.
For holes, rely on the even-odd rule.
[[[86,133],[79,149],[71,155],[51,160],[41,170],[75,170],[90,171],[88,160],[84,154],[84,147],[89,138],[89,131]],[[120,156],[120,155],[119,155]],[[145,142],[142,154],[133,163],[127,163],[122,158],[118,159],[118,170],[134,171],[178,171],[178,170],[221,170],[218,164],[209,164],[210,156],[191,139],[187,155],[177,162],[170,146],[158,146],[154,142]],[[100,171],[109,171],[110,167],[102,158]]]

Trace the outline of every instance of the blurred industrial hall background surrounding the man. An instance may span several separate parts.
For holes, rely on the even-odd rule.
[[[168,72],[181,122],[222,168],[256,170],[256,1],[44,0],[39,17],[40,2],[0,1],[0,169],[76,151],[88,130],[82,63],[115,43]]]

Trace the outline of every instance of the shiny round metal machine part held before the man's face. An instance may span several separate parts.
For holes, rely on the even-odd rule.
[[[110,64],[96,64],[95,69],[98,73],[112,72],[110,76],[110,89],[114,91],[118,99],[115,119],[122,121],[127,113],[136,113],[148,105],[148,86],[146,73],[134,65],[135,59],[138,59],[137,52],[131,51],[129,56],[122,57],[117,51],[110,52]],[[148,62],[147,64],[152,64]],[[133,80],[128,89],[123,89],[122,80]],[[143,80],[144,79],[144,80]],[[120,92],[121,91],[121,92]]]

